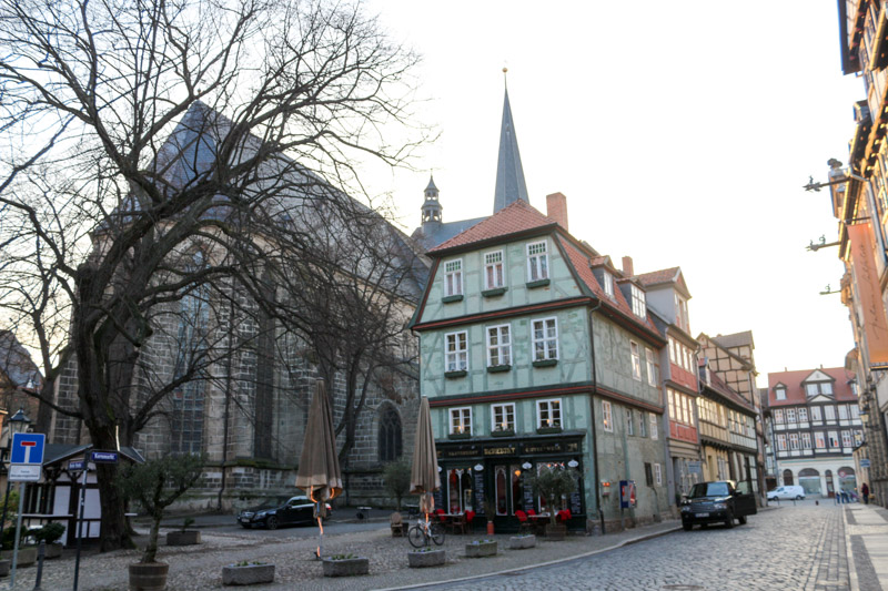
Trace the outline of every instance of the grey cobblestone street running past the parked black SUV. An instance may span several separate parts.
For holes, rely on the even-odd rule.
[[[559,564],[425,589],[845,591],[850,585],[841,511],[833,505],[784,506],[734,529],[695,528]]]

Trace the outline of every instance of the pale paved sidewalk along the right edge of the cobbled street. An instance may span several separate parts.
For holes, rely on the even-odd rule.
[[[844,516],[851,589],[888,591],[888,509],[855,502]]]

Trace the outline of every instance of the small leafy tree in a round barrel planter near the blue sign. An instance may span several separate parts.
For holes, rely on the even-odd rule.
[[[202,469],[202,456],[184,455],[163,456],[121,470],[117,483],[122,495],[139,501],[151,516],[151,532],[142,560],[130,564],[132,591],[162,590],[167,587],[170,565],[157,561],[160,521],[167,508],[198,481]]]

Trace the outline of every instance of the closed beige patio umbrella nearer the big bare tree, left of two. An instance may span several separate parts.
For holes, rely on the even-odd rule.
[[[315,503],[315,516],[320,528],[321,541],[317,558],[324,549],[324,526],[326,501],[342,492],[342,473],[336,455],[336,435],[333,431],[333,411],[324,390],[324,380],[315,381],[312,406],[309,408],[309,421],[305,426],[305,439],[302,442],[302,455],[299,459],[296,487],[305,491]]]

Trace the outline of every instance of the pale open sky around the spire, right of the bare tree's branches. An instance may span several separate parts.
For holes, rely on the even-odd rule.
[[[370,179],[407,232],[434,171],[445,222],[493,211],[503,67],[531,204],[636,273],[680,266],[692,333],[751,330],[769,371],[854,348],[827,160],[847,164],[862,81],[841,73],[835,0],[371,1],[423,60],[414,171]]]

